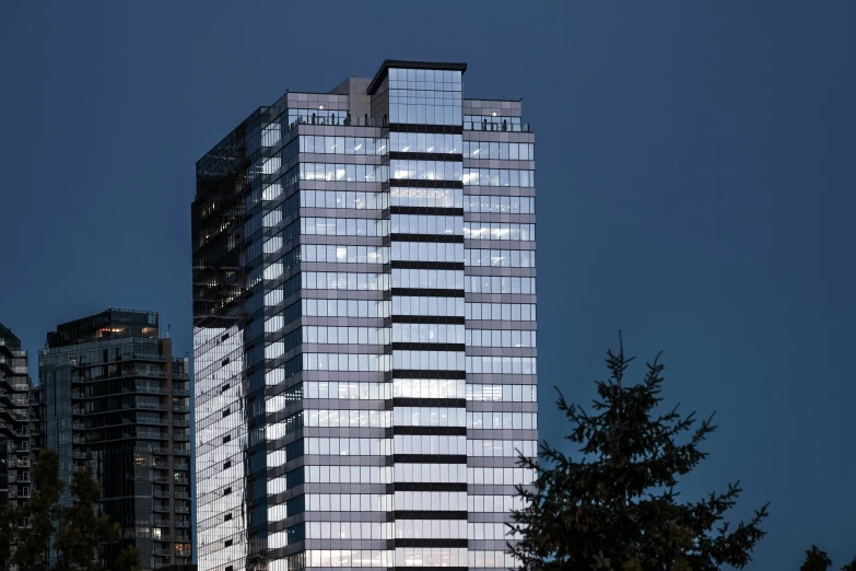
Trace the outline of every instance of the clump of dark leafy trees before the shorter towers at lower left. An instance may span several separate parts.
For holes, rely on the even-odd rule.
[[[17,510],[7,506],[0,522],[0,532],[9,529],[12,563],[20,571],[44,571],[51,541],[58,556],[55,571],[139,571],[139,552],[133,547],[126,547],[112,566],[99,563],[105,544],[119,539],[119,526],[97,510],[101,486],[89,467],[74,473],[71,505],[59,503],[66,485],[59,479],[56,452],[43,448],[32,476],[31,499]]]

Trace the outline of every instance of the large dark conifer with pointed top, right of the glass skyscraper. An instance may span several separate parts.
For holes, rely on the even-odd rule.
[[[621,340],[621,337],[619,336]],[[535,486],[518,487],[525,508],[513,512],[512,531],[523,539],[509,545],[527,570],[708,571],[741,569],[765,535],[766,505],[732,528],[726,514],[741,489],[731,483],[695,502],[680,502],[678,478],[706,456],[702,442],[715,430],[712,419],[696,426],[694,413],[678,407],[662,411],[664,365],[647,363],[642,383],[629,384],[633,358],[607,352],[608,381],[597,382],[593,412],[558,406],[570,424],[565,438],[578,453],[568,456],[542,443]]]

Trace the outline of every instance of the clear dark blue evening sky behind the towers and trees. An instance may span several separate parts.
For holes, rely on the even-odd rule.
[[[751,569],[856,555],[856,4],[248,5],[0,7],[0,322],[30,350],[113,305],[190,351],[196,160],[286,88],[466,61],[465,96],[521,96],[537,132],[542,435],[621,328],[669,403],[718,411],[685,497],[772,502]]]

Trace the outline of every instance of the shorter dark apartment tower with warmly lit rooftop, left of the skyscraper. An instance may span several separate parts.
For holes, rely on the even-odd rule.
[[[101,508],[121,526],[107,567],[128,544],[143,570],[189,564],[189,363],[161,338],[157,314],[109,308],[59,325],[38,369],[44,445],[59,454],[60,479],[89,463]]]

